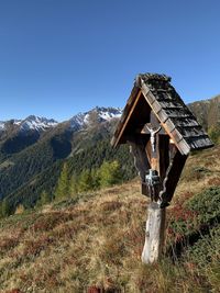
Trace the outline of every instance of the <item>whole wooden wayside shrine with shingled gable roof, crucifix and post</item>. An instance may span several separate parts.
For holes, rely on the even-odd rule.
[[[213,144],[185,105],[170,78],[141,74],[112,137],[129,144],[141,177],[142,194],[151,198],[142,261],[156,261],[164,246],[165,213],[190,150]]]

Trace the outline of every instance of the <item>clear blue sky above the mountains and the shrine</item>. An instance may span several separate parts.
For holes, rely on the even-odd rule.
[[[220,93],[219,0],[1,0],[0,121],[124,106],[139,72]]]

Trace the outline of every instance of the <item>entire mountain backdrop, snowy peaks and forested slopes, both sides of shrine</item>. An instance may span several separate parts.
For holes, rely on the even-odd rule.
[[[220,123],[220,97],[188,106],[206,131]],[[80,173],[117,159],[124,180],[132,178],[128,146],[113,150],[109,144],[121,114],[119,108],[97,106],[62,123],[35,115],[0,122],[0,200],[7,198],[12,209],[32,207],[42,191],[53,193],[64,161]]]

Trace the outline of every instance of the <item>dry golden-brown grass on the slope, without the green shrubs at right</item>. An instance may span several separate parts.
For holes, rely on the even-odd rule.
[[[217,147],[188,159],[174,205],[219,185],[219,154]],[[218,292],[215,274],[207,286],[188,260],[141,263],[146,206],[133,180],[1,221],[0,292],[209,292],[211,282]]]

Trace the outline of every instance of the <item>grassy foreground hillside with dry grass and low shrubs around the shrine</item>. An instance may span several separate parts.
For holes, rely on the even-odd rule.
[[[143,266],[140,182],[0,221],[0,292],[220,292],[220,146],[187,160],[165,255]]]

